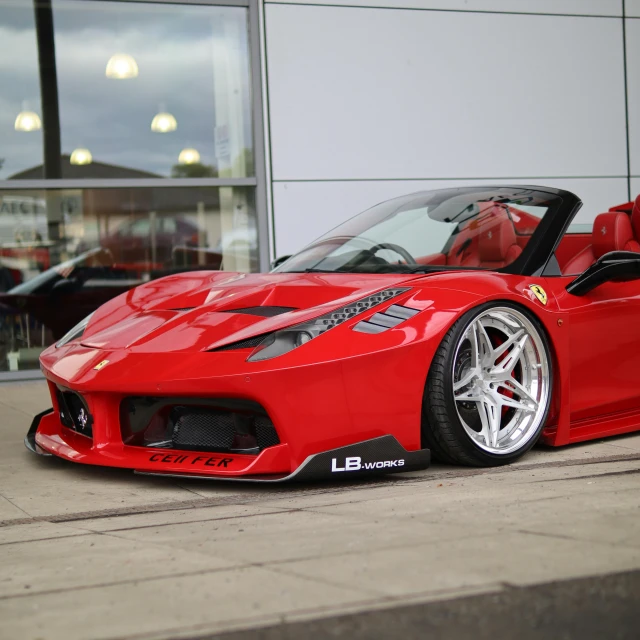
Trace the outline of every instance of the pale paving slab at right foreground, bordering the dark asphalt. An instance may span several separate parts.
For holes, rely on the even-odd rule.
[[[553,546],[553,552],[549,547]],[[401,549],[288,562],[279,571],[387,595],[437,591],[488,582],[535,584],[598,573],[640,569],[640,549],[523,532],[440,540]]]

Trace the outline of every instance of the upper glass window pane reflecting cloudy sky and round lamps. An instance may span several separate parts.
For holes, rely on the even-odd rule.
[[[253,175],[246,8],[54,0],[53,24],[58,177]],[[0,178],[42,178],[43,131],[14,127],[42,118],[31,2],[1,4],[0,37]]]

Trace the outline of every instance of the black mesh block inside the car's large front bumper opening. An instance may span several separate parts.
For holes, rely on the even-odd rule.
[[[231,449],[236,430],[230,413],[180,407],[174,410],[174,414],[174,448]]]

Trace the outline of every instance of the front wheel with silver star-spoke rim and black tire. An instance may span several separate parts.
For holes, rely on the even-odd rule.
[[[510,302],[468,311],[442,339],[422,403],[422,441],[449,464],[490,467],[523,456],[540,437],[553,388],[540,322]]]

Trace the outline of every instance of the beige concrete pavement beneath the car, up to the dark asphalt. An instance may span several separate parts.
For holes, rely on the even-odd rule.
[[[191,638],[640,569],[640,435],[263,487],[37,458],[49,404],[0,386],[0,638]]]

